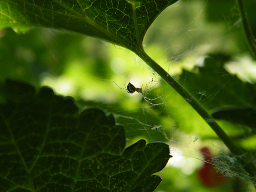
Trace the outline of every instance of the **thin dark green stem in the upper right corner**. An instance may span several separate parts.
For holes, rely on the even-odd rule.
[[[250,29],[250,25],[249,25],[245,7],[244,7],[244,1],[243,0],[236,0],[236,1],[238,4],[240,16],[242,19],[243,29],[244,29],[247,43],[250,47],[250,50],[252,52],[254,59],[256,60],[256,40],[254,38],[252,30]]]

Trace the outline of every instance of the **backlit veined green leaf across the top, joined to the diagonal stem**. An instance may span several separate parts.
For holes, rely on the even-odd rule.
[[[66,29],[135,50],[151,23],[176,1],[1,0],[0,29]]]

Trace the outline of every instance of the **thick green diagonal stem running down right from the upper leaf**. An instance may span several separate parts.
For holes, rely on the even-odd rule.
[[[243,165],[245,171],[250,174],[251,177],[255,177],[255,167],[248,160],[245,160],[245,151],[239,148],[225,131],[217,124],[217,122],[211,117],[209,113],[197,102],[197,100],[182,87],[182,85],[170,76],[160,65],[158,65],[147,53],[143,50],[143,47],[136,50],[136,54],[145,61],[154,71],[156,71],[164,81],[166,81],[173,89],[175,89],[197,112],[198,114],[206,121],[206,123],[214,130],[217,136],[225,143],[227,148],[239,158],[240,163]]]

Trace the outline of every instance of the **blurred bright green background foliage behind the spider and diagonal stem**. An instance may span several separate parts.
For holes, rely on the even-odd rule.
[[[245,1],[245,6],[256,34],[256,1]],[[159,15],[143,44],[207,110],[255,105],[256,64],[234,0],[180,0]],[[206,72],[205,66],[209,66]],[[196,76],[198,72],[201,76]],[[58,94],[74,97],[81,109],[96,106],[114,113],[126,129],[127,146],[141,138],[170,144],[174,157],[160,173],[163,181],[158,192],[253,191],[231,172],[233,180],[214,187],[200,182],[196,171],[203,166],[200,148],[212,148],[215,156],[227,149],[192,107],[128,50],[66,31],[34,28],[17,34],[4,29],[0,31],[0,80],[6,78],[50,86]],[[114,84],[125,88],[129,80],[136,87],[143,84],[142,89],[153,86],[145,95],[159,97],[153,102],[163,104],[151,106],[140,94],[128,94]],[[254,130],[218,123],[239,145],[256,149]],[[152,124],[161,127],[151,130]]]

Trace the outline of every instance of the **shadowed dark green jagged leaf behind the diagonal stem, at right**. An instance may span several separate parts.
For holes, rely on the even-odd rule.
[[[254,105],[256,93],[252,84],[242,82],[223,68],[229,59],[227,55],[209,55],[194,72],[183,70],[179,83],[207,109]]]

